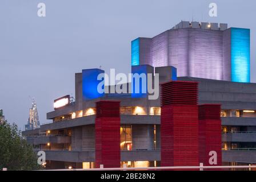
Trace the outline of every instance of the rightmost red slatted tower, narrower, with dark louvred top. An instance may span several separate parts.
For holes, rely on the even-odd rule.
[[[199,161],[204,166],[222,165],[221,144],[221,105],[205,104],[199,105]],[[217,164],[213,162],[210,152],[217,154]]]

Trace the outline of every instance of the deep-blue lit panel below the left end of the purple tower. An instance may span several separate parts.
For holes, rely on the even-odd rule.
[[[131,67],[131,73],[138,73],[141,75],[145,73],[147,75],[147,65],[139,65]],[[139,93],[135,93],[135,78],[131,80],[131,89],[133,93],[131,93],[131,98],[146,98],[147,97],[147,77],[146,77],[146,88],[142,89],[142,79],[139,80]],[[145,85],[144,85],[145,86]],[[146,89],[146,93],[143,93],[142,90]]]

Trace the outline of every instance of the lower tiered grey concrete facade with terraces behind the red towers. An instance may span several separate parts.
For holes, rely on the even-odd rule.
[[[166,70],[166,67],[163,69]],[[85,102],[81,98],[82,82],[79,75],[79,73],[75,75],[77,101],[47,113],[47,119],[53,119],[53,123],[42,125],[41,129],[37,129],[36,132],[33,130],[23,132],[23,135],[27,136],[27,140],[34,144],[37,150],[46,151],[46,159],[51,164],[49,168],[55,168],[56,161],[58,167],[59,165],[67,167],[71,164],[73,167],[81,167],[85,162],[94,163],[95,113],[85,115],[85,111],[95,107],[95,102],[101,100],[118,100],[121,101],[121,107],[133,106],[143,110],[141,113],[121,112],[121,127],[131,127],[131,141],[126,142],[132,143],[130,150],[127,150],[127,147],[121,149],[121,162],[147,161],[148,166],[159,166],[161,162],[160,113],[151,112],[152,107],[160,107],[159,99],[147,100],[147,98],[118,97],[106,94],[102,98]],[[256,133],[256,114],[242,114],[245,110],[256,110],[256,84],[193,77],[178,77],[178,80],[199,83],[198,104],[221,104],[222,111],[241,111],[240,115],[223,115],[222,117],[222,127],[225,127],[222,134],[223,164],[256,163],[256,158],[252,157],[254,148],[256,148],[256,139],[253,139]],[[162,80],[164,81],[165,79]],[[81,110],[84,114],[79,117],[67,117],[59,121],[56,119]],[[47,135],[48,132],[50,132],[49,135]],[[50,147],[47,143],[50,143]],[[93,167],[91,164],[90,167]]]

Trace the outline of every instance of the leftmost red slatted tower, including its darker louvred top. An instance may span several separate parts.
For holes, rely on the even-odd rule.
[[[95,167],[120,167],[120,102],[99,101],[95,119]]]

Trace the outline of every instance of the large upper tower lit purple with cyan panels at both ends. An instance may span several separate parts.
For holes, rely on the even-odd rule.
[[[250,30],[227,24],[181,22],[131,42],[131,65],[173,66],[177,76],[250,82]]]

